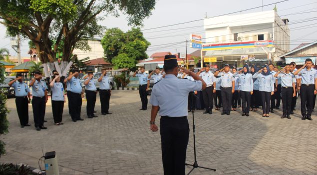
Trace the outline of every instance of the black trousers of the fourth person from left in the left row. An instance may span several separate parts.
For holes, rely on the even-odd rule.
[[[70,100],[68,99],[68,105],[71,106],[71,119],[77,120],[80,118],[80,111],[81,111],[81,93],[74,93],[72,91],[69,91]]]

